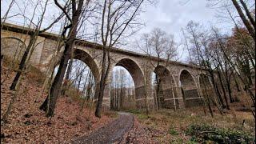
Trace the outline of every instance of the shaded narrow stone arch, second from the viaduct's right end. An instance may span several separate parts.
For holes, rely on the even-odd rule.
[[[181,84],[185,106],[201,106],[202,99],[199,97],[196,81],[188,70],[182,70],[180,72],[179,82]]]

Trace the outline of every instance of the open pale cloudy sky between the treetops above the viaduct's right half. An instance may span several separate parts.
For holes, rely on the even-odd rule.
[[[173,34],[175,42],[180,44],[183,38],[182,28],[185,28],[190,21],[199,22],[204,26],[218,26],[222,30],[230,31],[233,24],[217,18],[217,10],[207,4],[209,4],[207,0],[159,0],[156,6],[147,6],[145,13],[141,15],[146,26],[139,31],[139,34],[150,33],[154,27],[159,27],[167,34]],[[185,62],[188,55],[183,47],[178,48],[182,56],[178,61]]]

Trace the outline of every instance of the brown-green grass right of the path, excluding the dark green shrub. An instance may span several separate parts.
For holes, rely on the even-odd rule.
[[[202,108],[176,111],[159,110],[154,113],[151,112],[148,116],[146,113],[142,113],[142,111],[139,110],[131,110],[131,112],[135,113],[134,115],[138,118],[138,122],[142,123],[144,126],[165,131],[166,134],[170,135],[170,139],[168,139],[170,143],[220,143],[210,140],[200,141],[196,135],[193,135],[195,132],[188,134],[187,130],[192,125],[209,125],[214,126],[216,129],[224,129],[222,131],[223,134],[233,134],[233,136],[230,134],[230,138],[235,137],[234,135],[238,138],[239,134],[249,134],[251,138],[251,136],[255,134],[254,118],[252,114],[247,112],[236,112],[235,118],[234,114],[221,115],[218,113],[214,113],[214,118],[212,118],[210,114],[205,115]],[[242,127],[243,120],[245,120],[245,125]],[[236,134],[237,131],[239,132]],[[242,138],[242,142],[245,139],[246,137]],[[235,142],[231,141],[230,143]]]

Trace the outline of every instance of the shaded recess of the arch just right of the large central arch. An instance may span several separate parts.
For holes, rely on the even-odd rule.
[[[159,86],[156,87],[158,108],[174,108],[178,105],[178,99],[175,99],[177,92],[174,89],[174,77],[165,66],[157,66],[154,73],[159,82]]]

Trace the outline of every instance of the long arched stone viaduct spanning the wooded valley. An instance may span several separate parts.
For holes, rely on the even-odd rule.
[[[1,54],[10,57],[14,57],[15,54],[16,58],[20,58],[30,41],[30,34],[31,30],[28,28],[9,23],[3,24]],[[39,34],[30,63],[40,70],[46,71],[47,66],[54,60],[53,57],[58,48],[58,38],[57,34]],[[134,80],[136,106],[138,108],[144,107],[146,102],[152,108],[156,102],[151,86],[151,74],[153,72],[158,75],[161,82],[159,106],[162,108],[174,108],[174,106],[185,108],[202,105],[204,98],[199,79],[207,78],[201,78],[205,71],[197,66],[190,66],[181,62],[166,62],[165,59],[161,59],[160,65],[157,66],[158,58],[116,48],[110,50],[110,55],[112,62],[106,82],[104,106],[110,106],[110,82],[114,66],[123,66],[130,72]],[[96,83],[99,82],[102,60],[101,45],[78,39],[74,46],[74,58],[85,62],[90,67]],[[147,81],[145,81],[146,77]]]

